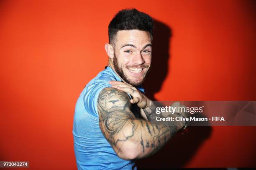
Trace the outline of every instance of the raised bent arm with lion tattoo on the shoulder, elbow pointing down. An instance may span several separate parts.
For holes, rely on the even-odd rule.
[[[100,129],[117,155],[125,160],[143,158],[158,151],[179,125],[136,119],[126,92],[107,87],[97,100]]]

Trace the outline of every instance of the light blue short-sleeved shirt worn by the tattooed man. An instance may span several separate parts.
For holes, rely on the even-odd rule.
[[[97,99],[100,91],[111,87],[110,80],[121,81],[107,67],[84,87],[74,114],[74,153],[79,170],[137,170],[134,160],[123,160],[116,155],[100,130]],[[142,87],[138,90],[144,92]]]

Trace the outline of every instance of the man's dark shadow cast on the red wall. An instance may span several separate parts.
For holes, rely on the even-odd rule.
[[[168,68],[170,40],[172,30],[164,23],[155,21],[152,67],[148,73],[143,86],[146,96],[156,100],[154,94],[159,92],[164,82]],[[195,155],[200,145],[210,137],[212,128],[210,126],[191,126],[185,130],[185,134],[174,135],[169,142],[151,157],[137,160],[138,169],[165,169],[182,168]]]

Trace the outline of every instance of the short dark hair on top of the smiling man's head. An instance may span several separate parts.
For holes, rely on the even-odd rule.
[[[115,36],[119,30],[147,31],[153,39],[154,20],[135,8],[120,10],[108,25],[108,41],[114,44]]]

